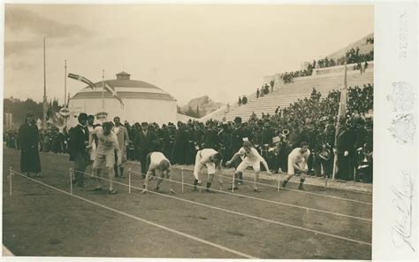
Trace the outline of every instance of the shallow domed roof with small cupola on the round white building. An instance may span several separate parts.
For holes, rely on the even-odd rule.
[[[108,85],[114,89],[118,96],[121,98],[137,98],[137,99],[157,99],[157,100],[170,100],[176,99],[164,89],[157,88],[145,81],[130,80],[130,74],[121,72],[117,74],[117,79],[106,80],[104,82],[95,82],[96,89],[91,89],[89,86],[81,89],[78,93],[72,96],[72,99],[81,98],[102,98],[102,85]],[[104,98],[114,98],[110,92],[106,90],[103,92]]]

